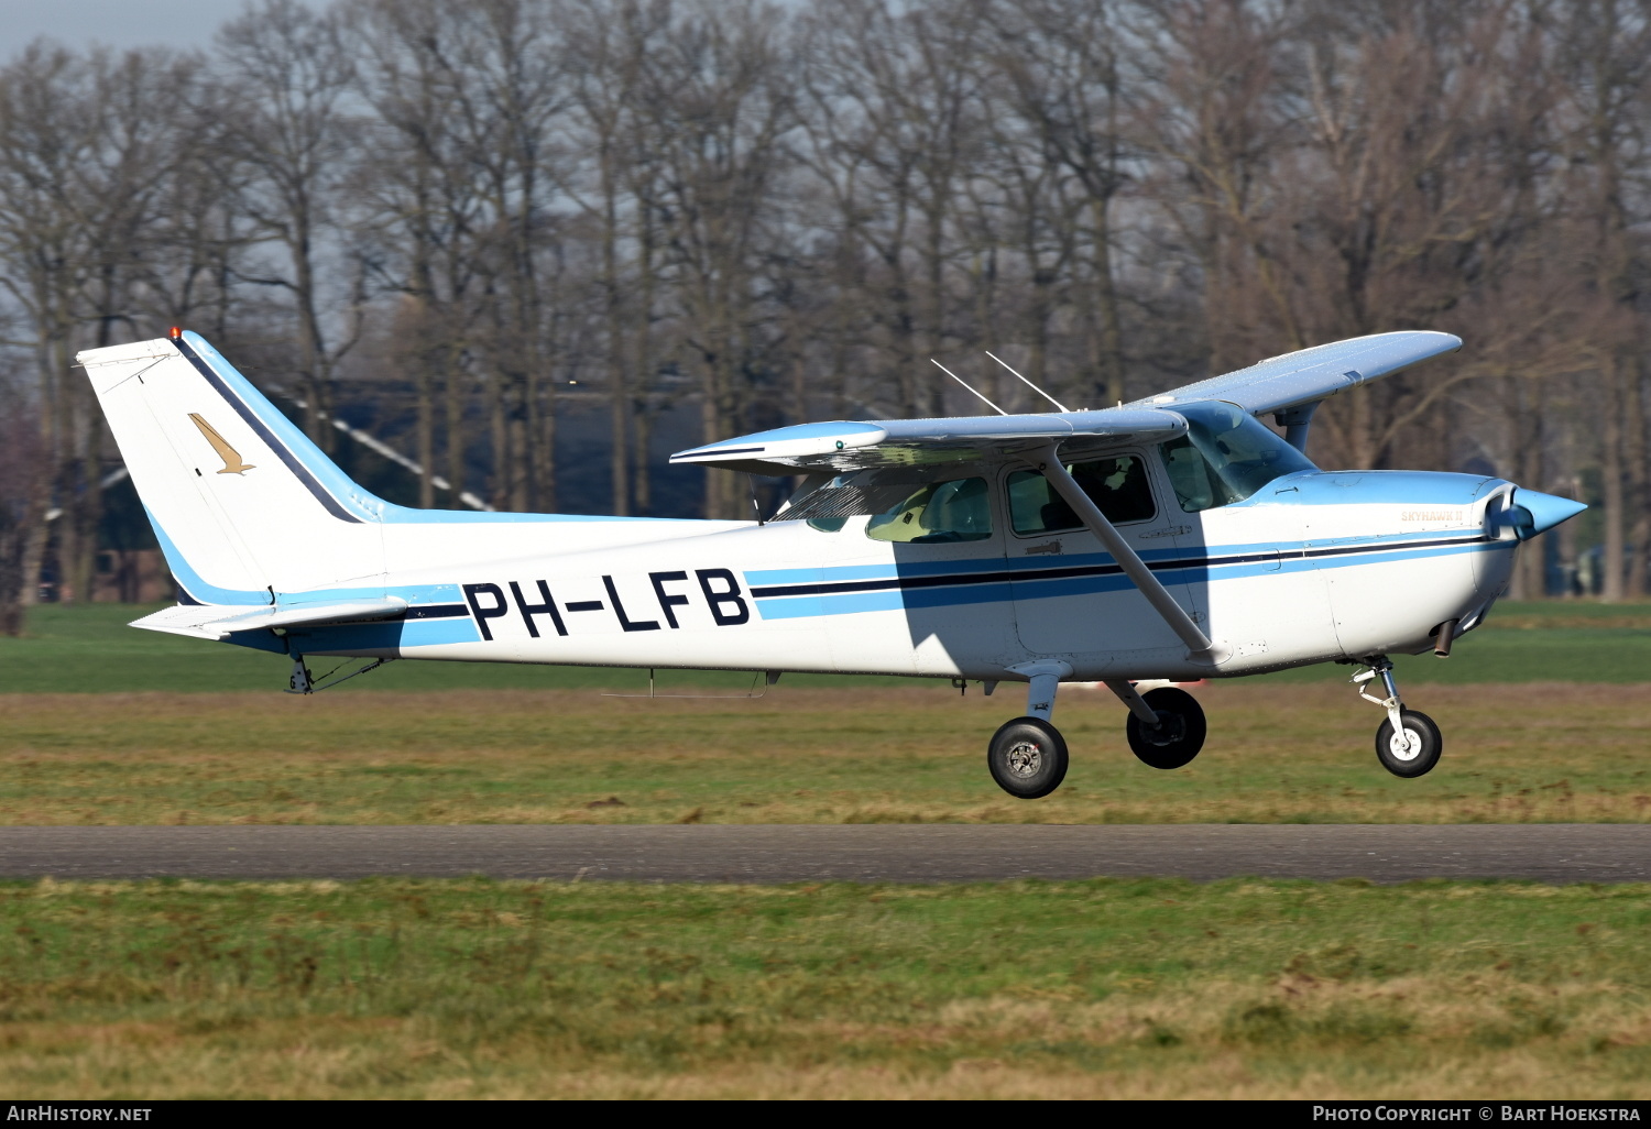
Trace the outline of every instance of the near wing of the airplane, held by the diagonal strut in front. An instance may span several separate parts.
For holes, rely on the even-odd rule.
[[[759,431],[670,456],[672,465],[702,464],[750,474],[845,474],[883,467],[974,462],[991,452],[1012,454],[1060,442],[1070,456],[1124,442],[1164,442],[1187,421],[1159,408],[1040,413],[1027,416],[949,416],[941,419],[839,419]]]

